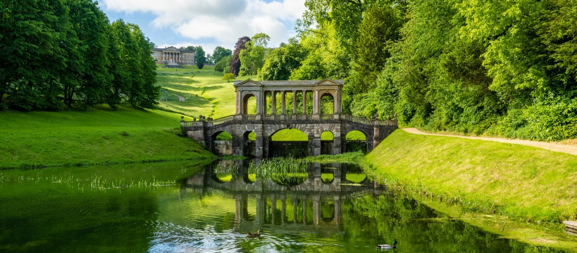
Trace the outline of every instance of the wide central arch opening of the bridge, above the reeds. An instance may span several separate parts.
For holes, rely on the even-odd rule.
[[[306,157],[309,137],[297,128],[282,128],[269,137],[269,157]]]

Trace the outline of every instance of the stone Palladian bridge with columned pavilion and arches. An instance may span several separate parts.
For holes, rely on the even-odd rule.
[[[396,116],[380,120],[377,115],[370,120],[343,114],[343,80],[288,80],[288,81],[235,81],[236,113],[222,118],[199,116],[193,121],[181,120],[187,135],[208,150],[220,154],[244,155],[246,157],[272,157],[272,136],[282,129],[298,129],[308,136],[305,155],[341,154],[349,151],[350,144],[361,144],[370,152],[397,126]],[[292,94],[292,110],[286,108],[286,94]],[[307,95],[312,94],[312,114],[307,111]],[[280,111],[276,111],[277,95],[280,94]],[[299,98],[302,96],[302,99]],[[332,98],[331,114],[321,112],[321,99]],[[249,114],[249,99],[256,100],[256,114]],[[268,101],[270,99],[270,101]],[[268,105],[270,102],[270,106]],[[267,107],[270,110],[267,110]],[[252,112],[252,111],[251,111]],[[310,112],[310,111],[309,111]],[[183,118],[183,117],[182,117]],[[332,141],[321,141],[323,132],[331,132]],[[351,131],[360,131],[365,140],[347,140]],[[222,132],[228,132],[232,140],[217,140]],[[256,138],[249,140],[253,132]],[[300,146],[302,147],[302,146]],[[297,148],[299,148],[297,146]]]

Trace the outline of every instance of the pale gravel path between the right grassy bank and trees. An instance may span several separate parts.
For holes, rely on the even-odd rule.
[[[492,142],[503,142],[503,143],[513,143],[513,144],[521,144],[526,146],[544,148],[546,150],[563,152],[571,155],[577,155],[577,147],[569,146],[565,144],[558,144],[558,143],[550,143],[550,142],[535,142],[533,140],[518,140],[518,139],[503,139],[503,138],[494,138],[494,137],[476,137],[476,136],[459,136],[459,135],[440,135],[437,133],[425,133],[420,131],[417,128],[402,128],[407,133],[414,133],[416,135],[439,135],[439,136],[449,136],[449,137],[458,137],[464,139],[475,139],[475,140],[490,140]]]

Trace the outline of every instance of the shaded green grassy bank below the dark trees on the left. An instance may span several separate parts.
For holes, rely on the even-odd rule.
[[[180,115],[107,107],[0,112],[0,168],[205,159],[212,154],[178,137]]]

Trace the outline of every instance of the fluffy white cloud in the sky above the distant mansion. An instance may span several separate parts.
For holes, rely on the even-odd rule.
[[[242,36],[264,32],[271,46],[293,35],[293,23],[305,11],[305,0],[104,0],[115,12],[155,14],[151,25],[168,27],[193,40],[215,39],[225,47],[234,47]],[[208,46],[208,45],[207,45]],[[204,46],[203,46],[204,48]]]

